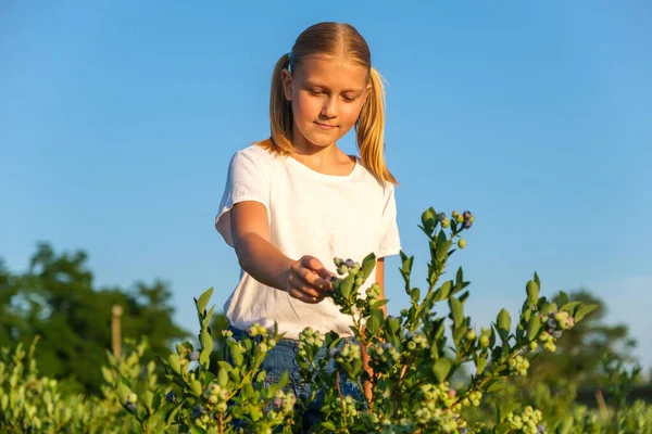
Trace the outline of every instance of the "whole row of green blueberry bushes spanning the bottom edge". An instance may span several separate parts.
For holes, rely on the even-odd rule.
[[[333,302],[351,317],[355,342],[335,332],[305,329],[297,363],[308,393],[296,396],[289,375],[265,385],[261,366],[283,331],[253,324],[244,340],[223,331],[228,361],[211,363],[213,336],[209,308],[212,289],[195,299],[199,320],[197,344],[186,341],[156,365],[140,360],[147,342],[130,342],[120,359],[108,354],[102,367],[102,397],[64,395],[57,382],[39,376],[22,347],[0,358],[1,432],[165,432],[165,433],[652,433],[650,406],[619,408],[616,423],[572,404],[573,394],[552,398],[535,390],[534,398],[514,398],[512,384],[528,375],[541,352],[597,305],[541,295],[537,273],[525,285],[517,316],[505,309],[477,330],[465,315],[469,282],[462,268],[444,279],[450,257],[466,247],[471,212],[449,216],[434,208],[422,215],[430,260],[425,286],[412,278],[414,257],[401,252],[400,273],[410,305],[386,316],[377,283],[365,286],[376,265],[373,254],[361,260],[334,258]],[[463,237],[464,235],[464,237]],[[560,302],[561,301],[561,302]],[[335,368],[333,368],[335,367]],[[468,381],[453,384],[456,373],[472,368]],[[363,398],[340,387],[346,375]],[[623,376],[622,388],[630,378]],[[510,397],[500,403],[496,397]],[[318,399],[318,400],[317,400]],[[556,400],[555,400],[556,399]],[[321,419],[305,413],[319,403]],[[491,412],[486,412],[491,404]],[[496,405],[493,405],[496,404]],[[568,406],[554,412],[556,406]],[[554,413],[547,418],[544,411]]]

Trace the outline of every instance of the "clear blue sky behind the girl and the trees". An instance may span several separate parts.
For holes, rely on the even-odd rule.
[[[415,279],[421,213],[472,209],[453,263],[478,327],[516,316],[536,270],[543,294],[602,297],[652,366],[650,2],[399,4],[2,2],[0,257],[23,270],[48,241],[87,251],[98,285],[161,278],[195,332],[192,296],[215,286],[220,308],[238,280],[213,219],[229,157],[268,135],[274,63],[309,25],[349,22],[389,82]]]

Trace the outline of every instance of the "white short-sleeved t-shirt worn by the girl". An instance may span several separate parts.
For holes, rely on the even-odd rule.
[[[231,247],[229,210],[243,201],[265,205],[269,240],[280,252],[294,260],[314,256],[331,272],[337,270],[335,257],[362,261],[372,252],[380,258],[401,250],[394,188],[380,186],[359,158],[350,175],[331,176],[251,145],[230,161],[215,218],[217,231]],[[375,278],[374,269],[361,293]],[[352,335],[350,317],[341,314],[330,297],[308,304],[260,283],[243,270],[224,311],[228,322],[241,330],[254,322],[272,330],[276,321],[286,339],[297,340],[306,327],[322,333],[334,330],[342,337]]]

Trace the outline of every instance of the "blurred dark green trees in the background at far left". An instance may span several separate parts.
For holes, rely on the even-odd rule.
[[[55,254],[41,243],[22,275],[0,261],[0,347],[28,345],[42,336],[36,359],[45,375],[65,379],[72,388],[99,394],[99,369],[111,349],[111,308],[121,305],[122,336],[147,336],[146,360],[170,354],[188,333],[172,320],[168,286],[137,282],[130,291],[96,289],[84,252]]]

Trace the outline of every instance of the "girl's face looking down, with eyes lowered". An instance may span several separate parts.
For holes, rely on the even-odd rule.
[[[355,125],[371,89],[367,69],[343,56],[309,55],[292,76],[284,71],[292,102],[292,144],[309,151],[335,144]]]

